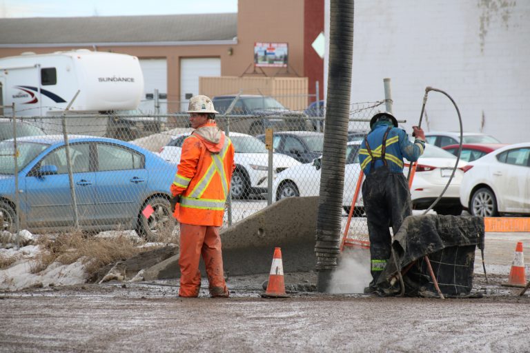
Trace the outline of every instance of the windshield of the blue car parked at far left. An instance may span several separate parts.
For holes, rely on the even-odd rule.
[[[37,157],[43,150],[46,150],[49,145],[46,143],[35,142],[19,142],[17,149],[19,155],[17,157],[18,169],[25,168],[35,157]],[[13,141],[0,142],[0,174],[14,174],[14,145]]]

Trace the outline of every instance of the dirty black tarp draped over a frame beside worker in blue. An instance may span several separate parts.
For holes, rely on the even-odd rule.
[[[391,259],[377,288],[385,295],[400,294],[397,267],[403,274],[405,295],[438,296],[424,261],[429,256],[444,296],[469,296],[473,288],[475,247],[484,249],[484,219],[476,216],[408,216],[392,242]]]

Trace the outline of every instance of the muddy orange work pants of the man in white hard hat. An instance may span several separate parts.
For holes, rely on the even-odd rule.
[[[219,228],[221,227],[180,223],[179,296],[199,296],[201,255],[206,265],[210,295],[228,296],[228,288],[224,281]]]

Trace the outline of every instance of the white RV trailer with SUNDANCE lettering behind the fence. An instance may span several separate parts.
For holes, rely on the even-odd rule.
[[[112,137],[114,118],[109,123],[108,114],[137,109],[144,77],[138,58],[127,54],[85,49],[23,53],[0,59],[0,88],[0,105],[14,103],[16,117],[35,117],[35,125],[48,134],[62,132],[60,117],[66,114],[68,133]],[[13,114],[10,108],[3,113]]]

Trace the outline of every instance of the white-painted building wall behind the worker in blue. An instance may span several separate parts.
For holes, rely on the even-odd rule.
[[[529,0],[355,0],[351,101],[383,99],[391,78],[393,111],[410,132],[430,85],[455,99],[464,131],[480,131],[484,113],[482,132],[530,141],[529,19]],[[442,94],[429,93],[426,112],[426,130],[458,130]]]

